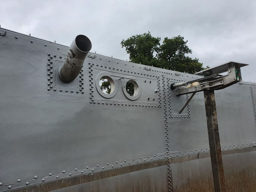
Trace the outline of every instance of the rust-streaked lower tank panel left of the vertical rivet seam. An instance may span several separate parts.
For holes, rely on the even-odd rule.
[[[126,173],[120,176],[114,176],[98,181],[92,181],[85,184],[75,185],[55,192],[67,191],[106,191],[106,192],[126,192],[126,191],[168,191],[167,166],[146,169],[138,172]]]

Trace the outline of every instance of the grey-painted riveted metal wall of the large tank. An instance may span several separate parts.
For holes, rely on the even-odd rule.
[[[189,95],[176,96],[170,90],[171,83],[201,76],[89,53],[79,76],[67,84],[59,79],[58,69],[63,66],[68,47],[2,31],[6,34],[0,36],[0,191],[71,177],[76,172],[81,174],[81,170],[84,174],[104,172],[209,149],[203,94],[196,93],[178,114]],[[99,74],[105,73],[110,73],[115,83],[111,97],[102,96],[104,93],[96,86]],[[129,79],[120,76],[136,79],[140,93],[137,98],[131,100],[127,95],[123,81]],[[255,86],[240,82],[215,91],[222,149],[255,145]],[[248,159],[244,163],[248,167],[253,166],[249,159],[255,159],[251,154],[255,152],[239,153],[241,159]],[[181,164],[188,169],[205,166],[201,162],[198,159]],[[168,174],[167,167],[75,185],[72,190],[95,184],[111,191],[111,182],[125,186],[124,180],[136,188],[141,184],[136,178],[144,174],[155,178],[152,172],[159,177],[162,172],[166,180],[159,179],[151,187],[168,186],[167,190],[173,191],[170,180],[174,179],[179,190],[175,182],[188,181],[189,175]],[[211,169],[207,173],[211,175]],[[197,169],[197,174],[203,174],[202,170]]]

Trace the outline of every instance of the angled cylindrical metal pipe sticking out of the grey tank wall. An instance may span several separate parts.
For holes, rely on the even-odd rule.
[[[63,66],[58,70],[58,76],[62,81],[70,83],[76,79],[91,48],[92,43],[88,37],[76,36],[68,48]]]

